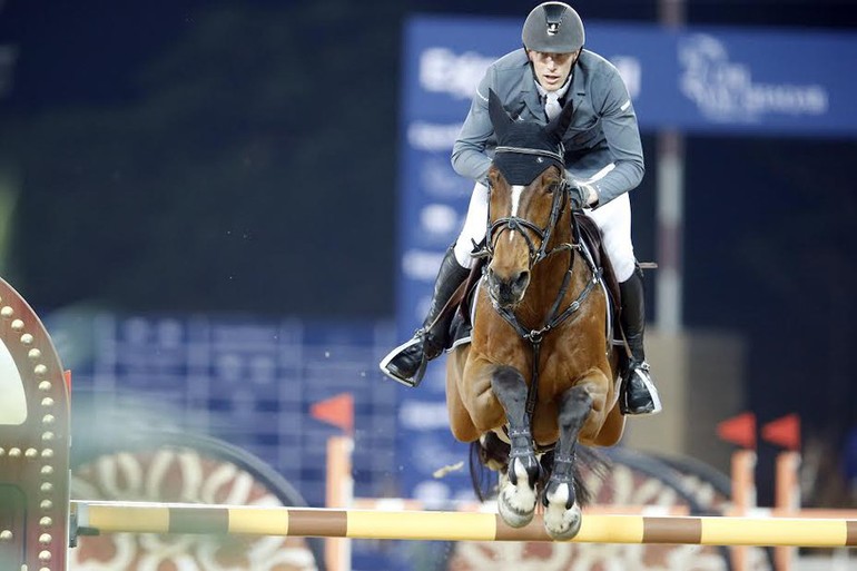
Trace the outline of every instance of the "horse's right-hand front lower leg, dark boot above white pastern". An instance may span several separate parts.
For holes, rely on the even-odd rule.
[[[592,410],[592,397],[583,386],[573,386],[560,397],[560,441],[542,502],[544,528],[555,540],[568,540],[580,531],[581,511],[574,491],[574,449],[578,434]]]

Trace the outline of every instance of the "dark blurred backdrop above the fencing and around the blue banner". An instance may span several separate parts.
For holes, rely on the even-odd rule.
[[[534,3],[0,2],[0,270],[43,311],[392,318],[402,22]],[[687,3],[689,24],[857,29],[851,1]],[[834,464],[857,423],[854,135],[687,139],[686,326],[740,335],[760,422],[800,413]],[[634,239],[656,259],[644,145]]]

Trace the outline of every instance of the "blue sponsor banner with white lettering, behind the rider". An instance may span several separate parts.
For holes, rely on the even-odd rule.
[[[466,213],[473,181],[450,164],[485,68],[520,47],[522,19],[426,18],[405,27],[401,107],[397,329],[425,316],[441,258]],[[857,35],[587,22],[587,47],[628,86],[642,130],[710,135],[857,137]],[[467,446],[450,435],[444,363],[402,388],[402,493],[425,501],[470,494]],[[437,479],[434,472],[464,461]]]

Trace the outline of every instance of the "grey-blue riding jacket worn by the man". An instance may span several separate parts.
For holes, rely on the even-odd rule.
[[[574,65],[565,104],[574,106],[565,132],[565,169],[572,179],[590,183],[604,205],[632,188],[643,177],[643,155],[637,115],[619,71],[592,51],[581,51]],[[535,76],[523,48],[492,63],[452,149],[455,171],[482,180],[491,167],[496,139],[487,112],[489,89],[514,118],[548,124]]]

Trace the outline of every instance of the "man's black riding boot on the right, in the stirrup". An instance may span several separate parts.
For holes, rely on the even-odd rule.
[[[622,374],[619,410],[622,414],[656,414],[661,412],[661,401],[646,362],[646,304],[642,270],[639,266],[630,278],[619,284],[619,289],[622,296],[622,329],[631,352]]]

